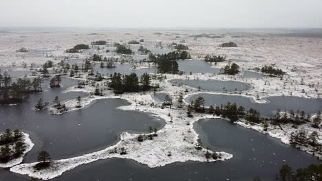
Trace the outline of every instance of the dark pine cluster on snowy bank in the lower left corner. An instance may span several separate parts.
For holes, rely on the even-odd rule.
[[[19,130],[7,129],[0,136],[0,162],[6,163],[18,158],[25,151],[25,143],[22,141],[23,134]],[[13,145],[13,146],[11,146]]]

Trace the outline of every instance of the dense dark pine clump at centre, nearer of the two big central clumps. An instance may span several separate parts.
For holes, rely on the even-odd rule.
[[[131,73],[130,75],[114,73],[114,75],[111,74],[110,77],[111,82],[109,83],[109,87],[114,90],[114,93],[138,92],[151,88],[151,77],[148,73],[144,73],[140,77],[140,80],[136,73]]]

